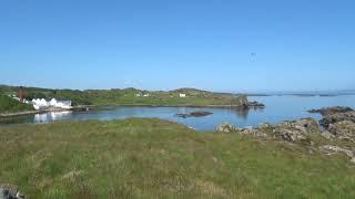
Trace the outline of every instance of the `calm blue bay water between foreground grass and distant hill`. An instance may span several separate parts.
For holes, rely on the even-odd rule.
[[[124,119],[129,117],[155,117],[184,124],[199,130],[212,130],[221,123],[232,123],[239,127],[257,126],[261,123],[281,123],[283,121],[313,117],[320,119],[318,114],[310,114],[307,109],[326,106],[349,106],[355,108],[355,95],[339,96],[261,96],[248,97],[266,105],[263,109],[236,108],[192,108],[192,107],[124,107],[105,106],[89,112],[60,112],[37,115],[26,115],[0,119],[0,125],[42,124],[63,121],[88,119]],[[185,114],[196,111],[212,112],[206,117],[180,118],[175,114]]]

